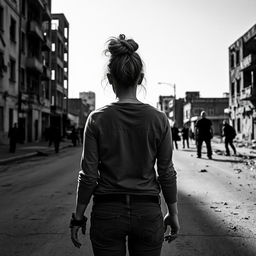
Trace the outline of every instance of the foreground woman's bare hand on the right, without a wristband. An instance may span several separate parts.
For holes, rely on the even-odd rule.
[[[178,214],[170,215],[167,213],[164,217],[164,226],[165,232],[167,230],[167,226],[170,226],[170,232],[168,235],[165,236],[165,241],[170,243],[171,241],[175,240],[178,237],[178,233],[180,230],[179,218]]]

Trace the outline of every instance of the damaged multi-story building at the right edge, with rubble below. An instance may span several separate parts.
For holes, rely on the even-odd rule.
[[[230,119],[240,139],[256,139],[256,25],[229,47]]]

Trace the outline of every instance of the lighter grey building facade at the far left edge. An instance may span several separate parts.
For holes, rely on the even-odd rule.
[[[0,0],[0,143],[18,122],[19,1]]]

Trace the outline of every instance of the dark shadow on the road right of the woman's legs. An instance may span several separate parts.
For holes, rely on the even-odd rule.
[[[256,255],[253,234],[243,232],[238,226],[234,229],[222,213],[210,207],[210,202],[179,191],[179,216],[180,235],[172,248],[164,245],[162,256],[170,255],[170,251],[182,256]]]

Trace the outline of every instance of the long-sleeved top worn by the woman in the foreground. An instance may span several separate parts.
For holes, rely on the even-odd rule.
[[[157,163],[157,173],[155,170]],[[90,114],[84,130],[77,201],[92,194],[159,195],[177,201],[169,121],[144,103],[112,103]]]

